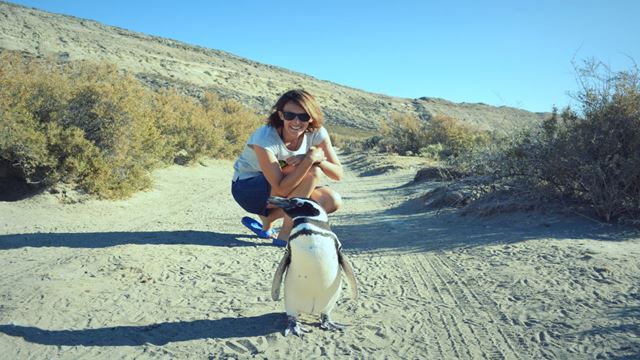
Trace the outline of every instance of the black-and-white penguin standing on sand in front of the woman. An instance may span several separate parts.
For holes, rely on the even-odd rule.
[[[340,270],[346,275],[353,299],[358,297],[358,285],[353,268],[342,254],[342,244],[329,227],[327,213],[308,198],[272,196],[268,202],[282,208],[293,219],[289,242],[271,286],[271,297],[277,301],[285,276],[284,306],[288,324],[284,335],[293,333],[302,337],[303,333],[310,332],[298,323],[301,313],[320,315],[320,328],[324,330],[344,329],[345,325],[331,320],[331,310],[340,297]]]

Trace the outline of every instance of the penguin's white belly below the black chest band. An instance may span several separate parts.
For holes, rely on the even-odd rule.
[[[326,238],[299,236],[291,243],[291,264],[284,281],[288,315],[327,314],[341,290],[335,243]]]

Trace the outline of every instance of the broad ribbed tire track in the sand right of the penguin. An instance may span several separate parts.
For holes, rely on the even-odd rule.
[[[464,273],[464,269],[452,269],[442,254],[401,257],[405,269],[400,272],[408,277],[404,284],[410,284],[420,297],[416,306],[423,314],[408,319],[408,323],[412,329],[425,329],[424,324],[415,323],[429,323],[426,328],[431,331],[424,335],[432,338],[425,339],[425,343],[434,345],[428,353],[473,359],[531,357],[530,349],[514,346],[514,342],[523,344],[517,334],[503,329],[505,324],[499,321],[501,312],[495,302],[462,280],[460,272]]]

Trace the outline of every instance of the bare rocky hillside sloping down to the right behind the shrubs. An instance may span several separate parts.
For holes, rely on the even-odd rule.
[[[151,87],[172,86],[196,96],[210,90],[259,113],[266,113],[287,89],[302,87],[318,98],[329,125],[348,128],[375,129],[394,113],[414,114],[425,120],[444,114],[483,129],[498,130],[518,128],[546,116],[510,107],[369,93],[224,51],[6,2],[0,2],[0,49],[53,56],[61,62],[107,61]]]

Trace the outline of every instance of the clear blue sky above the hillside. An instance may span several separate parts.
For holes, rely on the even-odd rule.
[[[572,62],[640,62],[640,1],[11,1],[391,96],[571,104]]]

